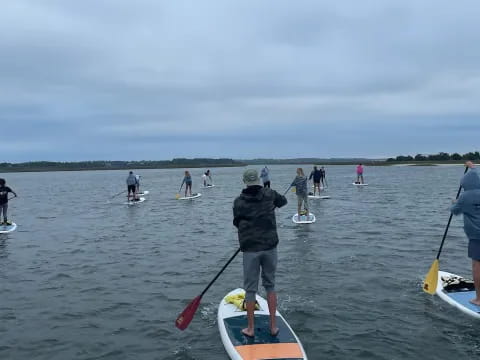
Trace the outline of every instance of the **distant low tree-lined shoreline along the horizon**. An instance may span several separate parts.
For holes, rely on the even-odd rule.
[[[206,161],[205,161],[206,160]],[[223,160],[223,159],[222,159]],[[172,161],[91,161],[91,162],[29,162],[20,164],[1,163],[0,173],[15,172],[55,172],[55,171],[104,171],[130,169],[189,169],[245,167],[263,165],[320,165],[320,166],[353,166],[362,163],[365,166],[437,166],[462,165],[464,161],[386,161],[373,159],[253,159],[230,160],[220,159],[174,159]]]

